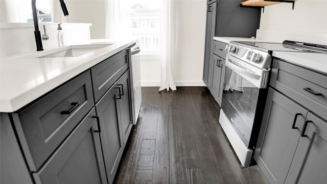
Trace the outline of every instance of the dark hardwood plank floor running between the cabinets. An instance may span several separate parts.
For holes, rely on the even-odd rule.
[[[116,183],[268,183],[258,166],[241,168],[205,87],[142,88],[142,107]]]

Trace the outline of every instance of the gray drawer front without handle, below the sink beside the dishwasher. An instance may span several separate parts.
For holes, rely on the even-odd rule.
[[[94,99],[97,102],[128,68],[128,50],[125,49],[91,68]]]

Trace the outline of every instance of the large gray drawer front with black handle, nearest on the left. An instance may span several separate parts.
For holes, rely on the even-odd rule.
[[[12,114],[31,171],[44,163],[93,105],[87,71]]]

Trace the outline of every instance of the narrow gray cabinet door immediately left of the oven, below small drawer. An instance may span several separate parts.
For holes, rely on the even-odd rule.
[[[221,105],[223,82],[225,76],[225,59],[213,54],[213,76],[210,92],[215,100]]]

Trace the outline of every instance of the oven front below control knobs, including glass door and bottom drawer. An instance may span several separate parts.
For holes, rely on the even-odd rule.
[[[226,55],[219,122],[244,167],[249,165],[258,139],[268,74],[266,69]]]

